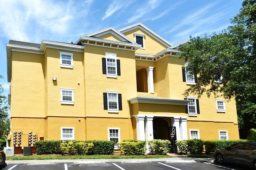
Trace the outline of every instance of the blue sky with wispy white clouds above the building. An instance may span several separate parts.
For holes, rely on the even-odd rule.
[[[173,45],[226,29],[242,0],[0,0],[0,84],[9,92],[6,43],[10,39],[76,42],[86,35],[141,22]]]

